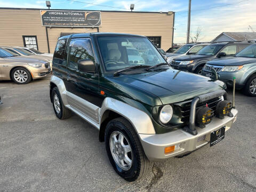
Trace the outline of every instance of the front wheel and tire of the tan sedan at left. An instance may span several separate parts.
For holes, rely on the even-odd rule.
[[[12,70],[12,81],[17,84],[27,84],[32,80],[30,72],[24,67],[17,67]]]

